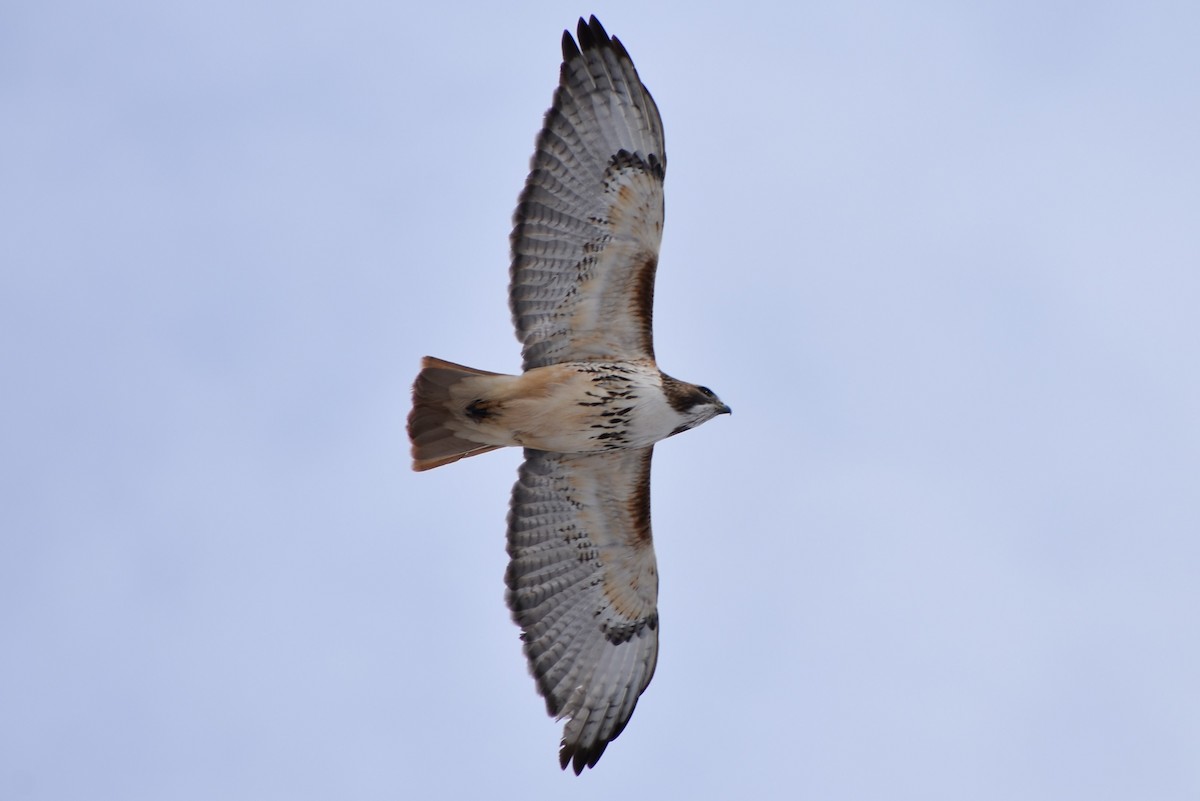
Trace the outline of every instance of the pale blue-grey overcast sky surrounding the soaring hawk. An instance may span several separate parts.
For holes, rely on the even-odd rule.
[[[660,363],[736,414],[656,450],[658,673],[576,778],[503,600],[520,454],[413,474],[403,424],[425,354],[520,367],[587,13],[666,125]],[[1153,0],[6,4],[0,797],[1200,797],[1198,41]]]

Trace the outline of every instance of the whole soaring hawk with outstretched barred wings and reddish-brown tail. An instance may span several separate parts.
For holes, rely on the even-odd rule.
[[[538,691],[566,718],[559,763],[593,767],[654,675],[650,454],[728,414],[654,359],[662,120],[600,22],[563,32],[563,65],[511,235],[522,374],[426,356],[413,469],[524,448],[508,518],[506,600]]]

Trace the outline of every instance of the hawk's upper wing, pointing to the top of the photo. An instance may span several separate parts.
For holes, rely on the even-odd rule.
[[[524,369],[654,359],[662,120],[595,17],[563,32],[554,102],[512,219],[509,305]]]

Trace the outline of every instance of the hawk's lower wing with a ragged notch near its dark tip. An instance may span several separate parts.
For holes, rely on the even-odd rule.
[[[634,713],[659,654],[653,447],[526,451],[509,511],[508,602],[559,761],[592,767]]]

